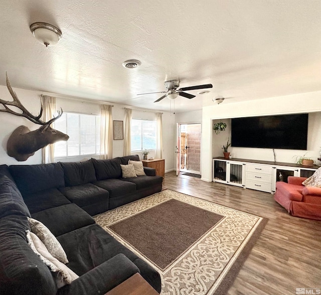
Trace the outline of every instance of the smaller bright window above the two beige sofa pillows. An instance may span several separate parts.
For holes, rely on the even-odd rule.
[[[156,121],[131,120],[131,151],[156,150]]]

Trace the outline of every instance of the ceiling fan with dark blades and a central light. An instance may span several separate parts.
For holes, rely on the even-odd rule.
[[[167,91],[140,93],[140,94],[137,94],[137,95],[153,94],[153,93],[166,93],[165,95],[163,95],[162,97],[159,97],[154,102],[161,101],[165,97],[168,97],[169,99],[175,99],[179,95],[191,99],[191,98],[195,97],[195,95],[190,94],[190,93],[186,93],[186,92],[183,92],[183,91],[204,89],[204,88],[212,88],[213,87],[212,84],[204,84],[204,85],[197,85],[197,86],[178,88],[180,86],[180,80],[169,80],[169,81],[164,82],[164,85],[165,85],[165,88],[167,89]]]

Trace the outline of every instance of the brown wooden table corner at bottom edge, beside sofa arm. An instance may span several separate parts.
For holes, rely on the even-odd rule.
[[[159,295],[137,272],[105,295]]]

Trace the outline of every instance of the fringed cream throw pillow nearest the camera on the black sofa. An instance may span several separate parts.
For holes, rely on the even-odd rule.
[[[54,272],[53,276],[56,280],[57,287],[60,288],[65,284],[70,284],[73,280],[79,276],[73,272],[64,263],[60,262],[58,259],[53,257],[45,244],[40,240],[40,238],[26,230],[28,245],[31,249],[39,256],[39,258],[49,267],[49,269]]]

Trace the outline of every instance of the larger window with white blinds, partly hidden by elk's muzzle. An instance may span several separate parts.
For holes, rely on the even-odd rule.
[[[69,135],[67,141],[55,143],[55,158],[99,154],[99,115],[66,112],[55,121],[55,129]]]

